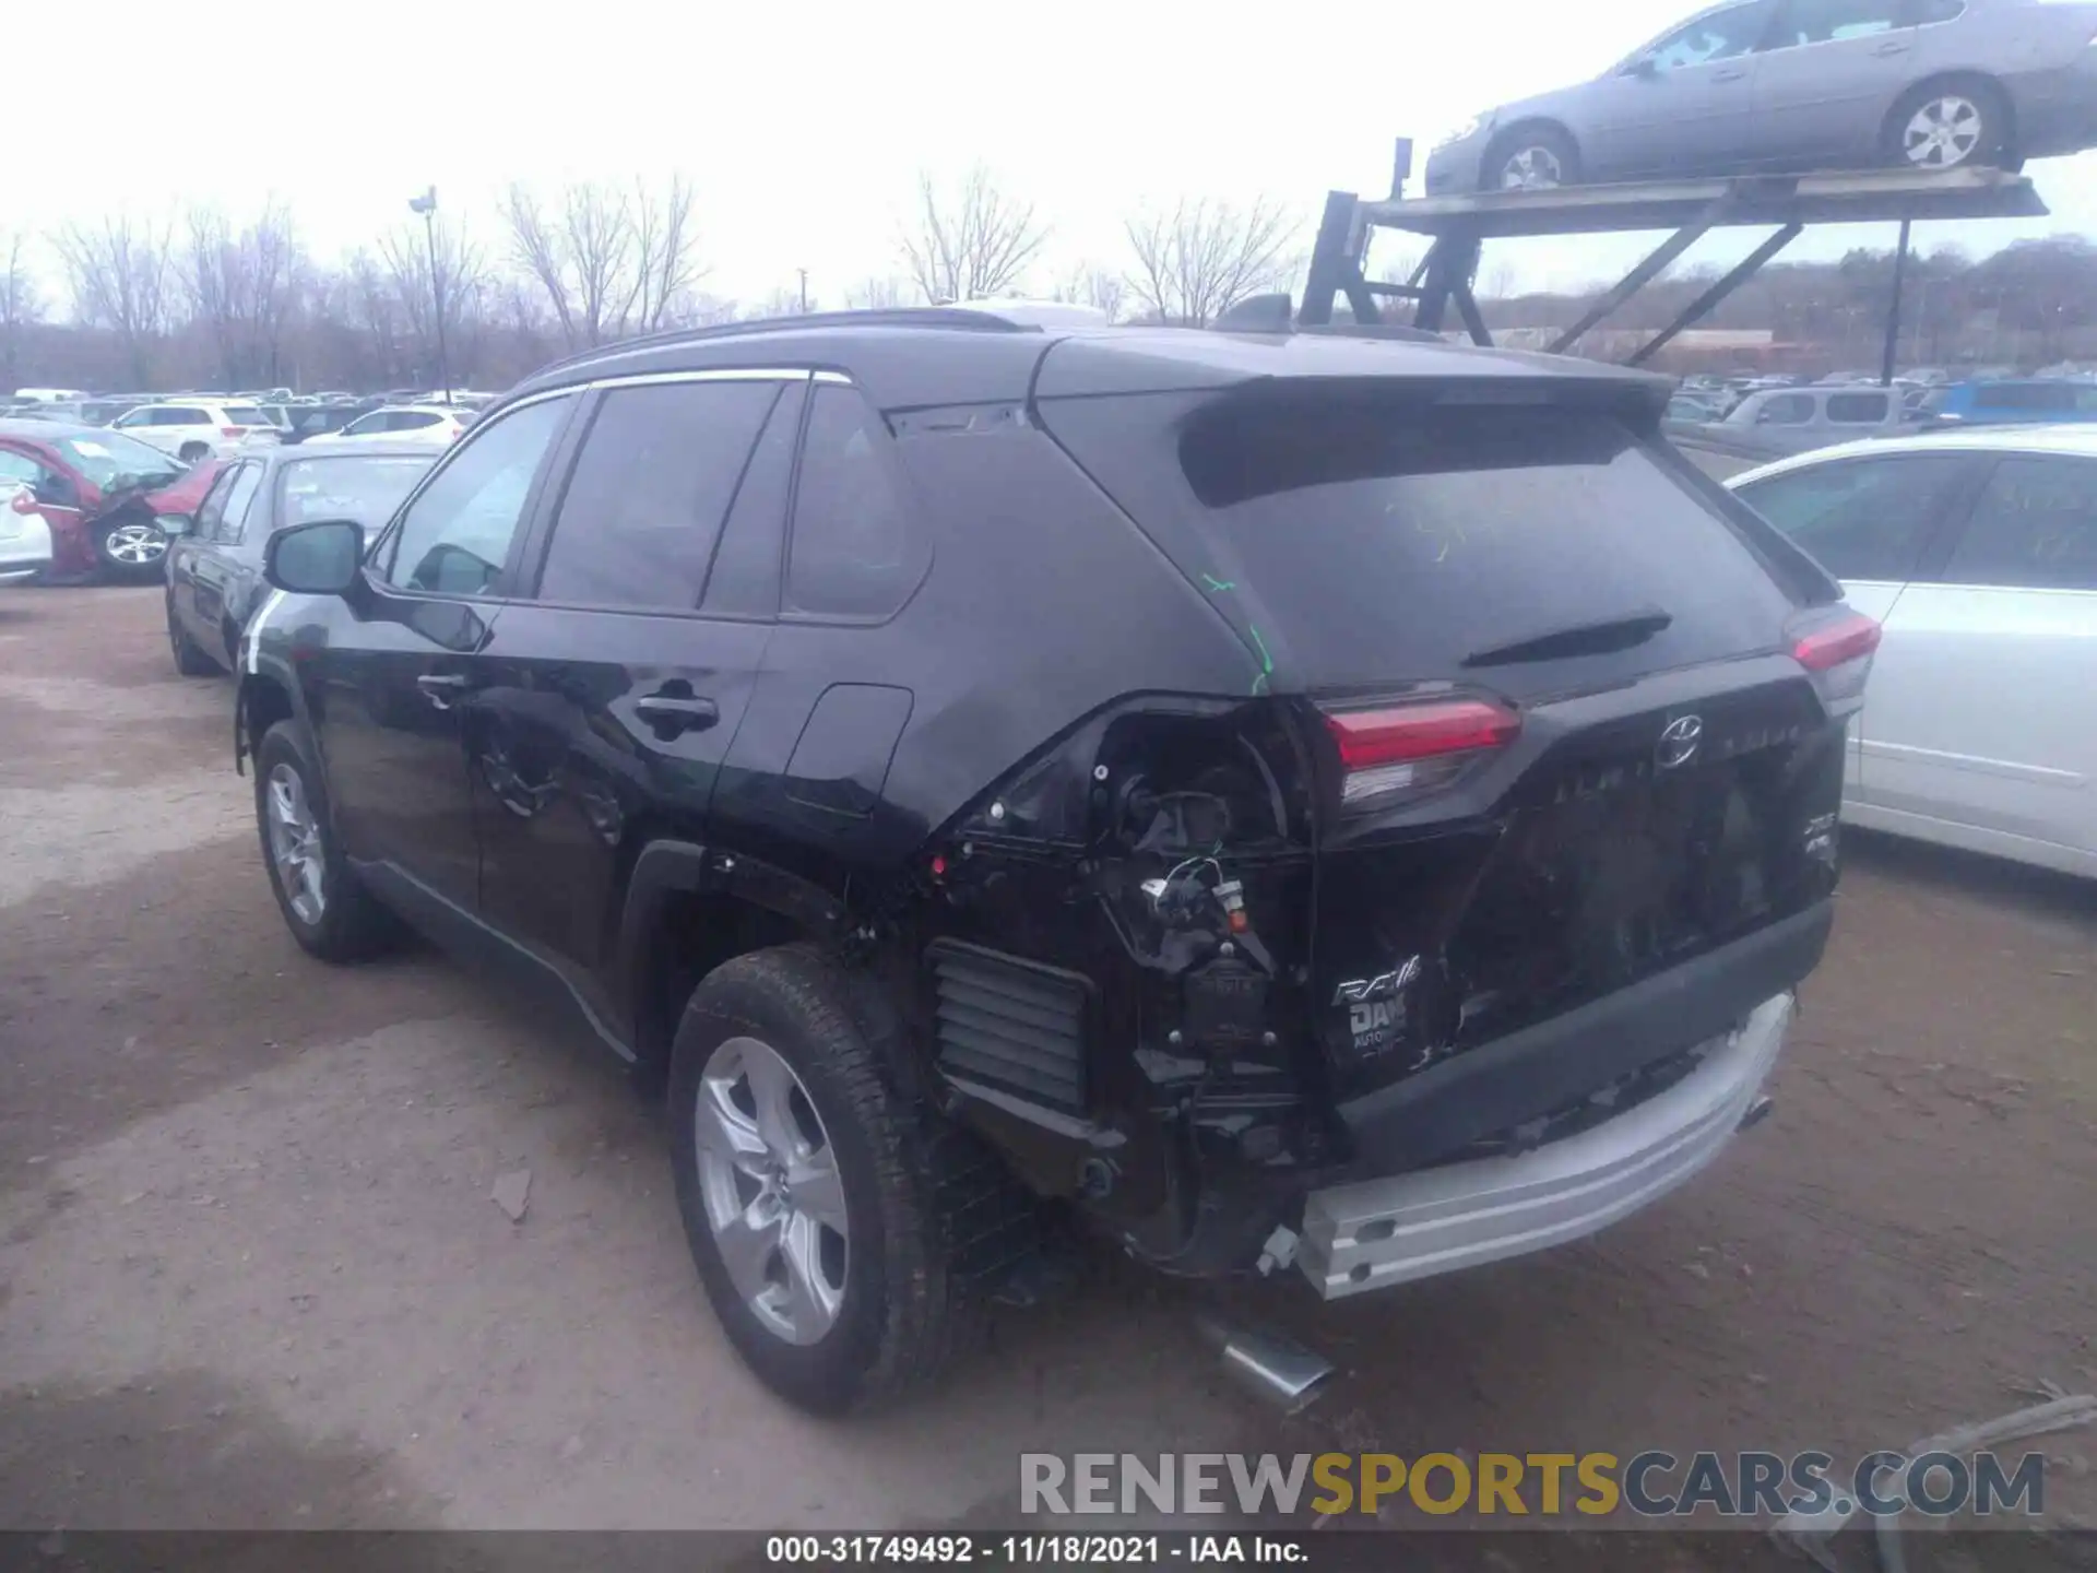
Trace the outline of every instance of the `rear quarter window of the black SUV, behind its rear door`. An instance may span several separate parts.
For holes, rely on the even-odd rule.
[[[786,604],[809,617],[893,617],[931,566],[887,453],[887,426],[853,390],[816,384],[795,480]]]

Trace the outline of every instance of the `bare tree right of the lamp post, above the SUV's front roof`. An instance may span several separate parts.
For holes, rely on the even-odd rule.
[[[631,193],[572,185],[554,210],[514,185],[501,212],[512,258],[539,285],[570,350],[667,325],[702,277],[682,174],[661,191],[644,180]]]

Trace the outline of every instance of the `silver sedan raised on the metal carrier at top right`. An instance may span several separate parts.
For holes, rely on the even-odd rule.
[[[2093,0],[1734,0],[1480,115],[1428,195],[1753,170],[2015,168],[2097,145]]]

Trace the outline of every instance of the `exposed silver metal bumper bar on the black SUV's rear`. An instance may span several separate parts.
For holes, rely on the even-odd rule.
[[[1644,1103],[1514,1158],[1478,1158],[1313,1191],[1298,1267],[1336,1300],[1594,1233],[1709,1164],[1753,1107],[1791,1023],[1789,992],[1711,1038]]]

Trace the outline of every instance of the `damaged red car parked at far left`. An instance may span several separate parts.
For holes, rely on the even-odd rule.
[[[0,422],[0,484],[29,489],[50,524],[48,579],[159,583],[172,514],[191,514],[218,459],[182,466],[99,426]]]

